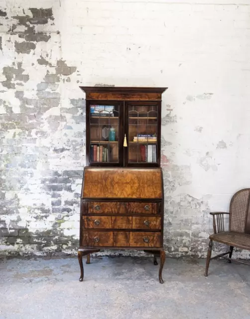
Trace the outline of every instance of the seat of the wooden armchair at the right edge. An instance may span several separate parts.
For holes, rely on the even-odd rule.
[[[250,235],[244,233],[237,233],[233,231],[223,231],[218,234],[210,235],[209,238],[219,243],[229,246],[238,247],[241,249],[250,250]]]

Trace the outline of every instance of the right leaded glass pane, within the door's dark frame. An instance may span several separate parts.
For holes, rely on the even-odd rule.
[[[128,162],[157,162],[157,106],[128,107]]]

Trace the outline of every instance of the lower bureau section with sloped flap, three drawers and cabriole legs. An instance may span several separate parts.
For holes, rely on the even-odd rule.
[[[163,182],[161,168],[85,167],[81,194],[78,258],[100,249],[139,249],[160,257],[163,250]]]

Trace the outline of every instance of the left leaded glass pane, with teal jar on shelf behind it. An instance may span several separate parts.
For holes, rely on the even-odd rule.
[[[90,105],[92,162],[119,162],[119,111],[117,105]]]

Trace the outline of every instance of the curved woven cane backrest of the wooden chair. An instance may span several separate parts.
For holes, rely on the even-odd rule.
[[[229,230],[250,234],[250,188],[234,194],[229,212]]]

